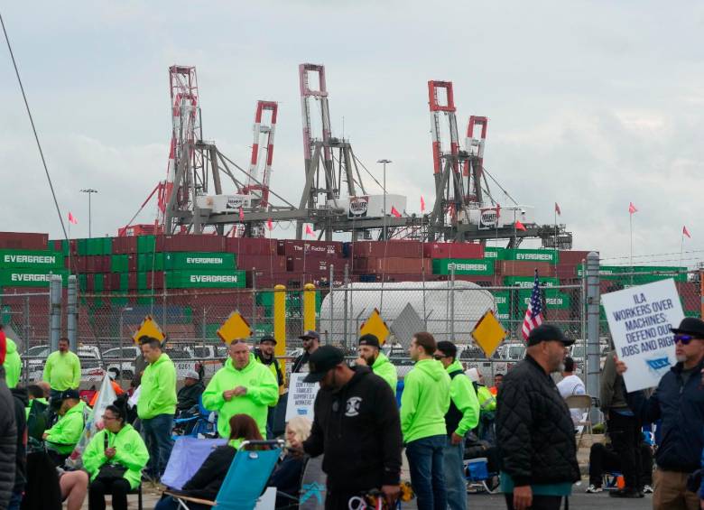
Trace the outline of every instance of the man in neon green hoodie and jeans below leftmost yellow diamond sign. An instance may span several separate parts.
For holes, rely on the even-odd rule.
[[[147,476],[153,480],[162,477],[171,457],[173,414],[176,413],[176,367],[162,352],[157,338],[141,337],[142,354],[149,365],[144,368],[142,385],[137,400],[137,415],[149,450]]]

